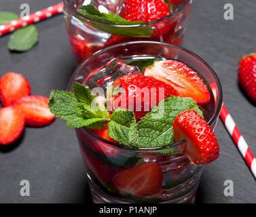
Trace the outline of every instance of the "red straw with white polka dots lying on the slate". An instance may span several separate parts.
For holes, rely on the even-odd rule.
[[[42,9],[41,11],[35,12],[28,16],[24,16],[18,20],[13,20],[12,22],[8,22],[0,26],[0,36],[10,33],[17,28],[21,28],[23,26],[29,25],[31,23],[38,22],[39,20],[43,20],[45,18],[50,18],[56,14],[60,14],[63,12],[63,5],[62,3],[58,3],[51,7]]]

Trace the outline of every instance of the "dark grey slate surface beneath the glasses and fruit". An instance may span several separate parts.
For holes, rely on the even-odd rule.
[[[31,13],[57,0],[0,0],[0,10],[20,13],[29,3]],[[225,3],[234,5],[234,20],[223,18]],[[237,81],[240,57],[256,52],[255,0],[195,0],[183,47],[211,64],[221,80],[224,102],[256,154],[256,108]],[[73,58],[61,15],[36,24],[39,43],[17,54],[7,50],[10,35],[0,37],[0,76],[9,71],[29,79],[32,94],[48,96],[65,90],[77,63]],[[219,120],[216,135],[221,156],[204,167],[196,203],[256,203],[256,183],[232,139]],[[20,181],[29,180],[31,196],[20,196]],[[223,182],[234,182],[234,197],[225,197]],[[92,203],[73,130],[56,119],[43,128],[26,127],[10,146],[0,146],[0,203]]]

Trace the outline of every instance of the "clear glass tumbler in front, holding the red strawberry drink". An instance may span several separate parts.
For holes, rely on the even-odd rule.
[[[211,102],[204,106],[205,119],[215,129],[222,104],[221,84],[217,75],[204,60],[192,52],[153,41],[134,41],[106,47],[80,64],[69,81],[68,90],[75,82],[83,83],[88,75],[113,58],[172,58],[194,68],[204,79],[211,92]],[[81,154],[87,167],[88,182],[94,203],[193,203],[202,174],[202,166],[191,163],[177,151],[184,141],[156,148],[130,148],[100,138],[86,127],[76,129]],[[172,154],[168,150],[172,149]],[[144,164],[144,165],[143,165]],[[132,195],[115,189],[113,176],[126,170],[127,182],[138,176],[138,188],[143,177],[134,174],[134,168],[154,167],[162,182],[151,195]],[[140,180],[141,178],[141,180]],[[145,177],[144,177],[145,178]]]

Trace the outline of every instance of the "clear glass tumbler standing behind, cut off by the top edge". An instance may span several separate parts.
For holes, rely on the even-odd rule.
[[[71,47],[79,63],[94,54],[94,52],[103,47],[113,45],[114,43],[149,40],[181,45],[192,2],[192,0],[185,0],[177,6],[172,6],[172,8],[170,8],[172,12],[170,15],[160,20],[148,22],[147,24],[113,25],[96,22],[77,12],[77,9],[83,5],[84,1],[85,0],[62,0],[64,3],[64,17]],[[107,7],[110,12],[114,13],[118,13],[123,2],[124,0],[91,1],[96,7],[103,5]],[[100,31],[98,28],[94,28],[92,24],[100,25],[103,28],[111,26],[112,29],[114,28],[115,32],[119,33],[126,31],[126,28],[151,26],[154,33],[149,38],[121,37],[121,39],[117,41],[111,40],[111,42],[109,42],[109,39],[113,35],[105,31]]]

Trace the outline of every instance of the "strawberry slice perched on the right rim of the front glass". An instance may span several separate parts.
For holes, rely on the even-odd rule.
[[[219,157],[219,144],[208,123],[194,110],[179,114],[173,121],[175,142],[185,140],[181,153],[197,164],[206,164]]]

